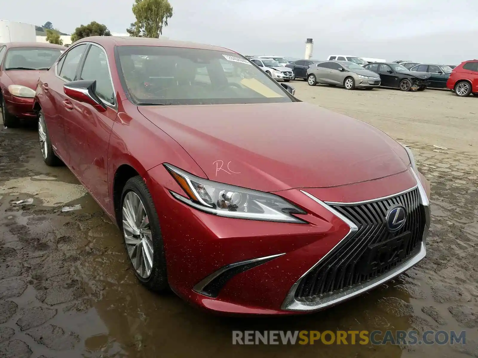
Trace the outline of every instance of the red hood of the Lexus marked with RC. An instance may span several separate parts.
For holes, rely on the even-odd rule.
[[[138,109],[208,179],[250,189],[347,185],[409,164],[403,147],[377,128],[306,102]]]

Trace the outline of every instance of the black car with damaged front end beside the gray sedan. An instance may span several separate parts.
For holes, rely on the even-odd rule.
[[[430,84],[430,74],[409,71],[398,63],[375,62],[363,67],[380,75],[382,87],[400,88],[401,91],[423,91]]]

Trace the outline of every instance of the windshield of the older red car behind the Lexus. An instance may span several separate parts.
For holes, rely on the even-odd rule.
[[[7,52],[5,70],[47,70],[62,52],[45,47],[13,47]]]

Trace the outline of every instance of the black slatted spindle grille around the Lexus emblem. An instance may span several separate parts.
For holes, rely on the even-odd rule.
[[[394,205],[405,207],[407,220],[399,231],[389,232],[385,218],[389,208]],[[381,201],[332,207],[354,222],[358,231],[304,276],[295,292],[296,299],[317,300],[363,284],[385,274],[420,250],[425,213],[417,188]],[[402,240],[402,237],[406,239]],[[393,242],[393,238],[397,238],[397,242],[389,247],[388,242]],[[378,264],[380,255],[376,260],[371,260],[369,255],[369,248],[381,242],[383,247],[380,254],[393,257],[393,260],[385,261],[382,265]]]

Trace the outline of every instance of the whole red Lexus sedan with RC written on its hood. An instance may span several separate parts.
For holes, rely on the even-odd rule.
[[[40,76],[34,108],[45,163],[118,224],[141,284],[281,315],[401,274],[430,225],[410,149],[292,93],[225,48],[90,37]]]

